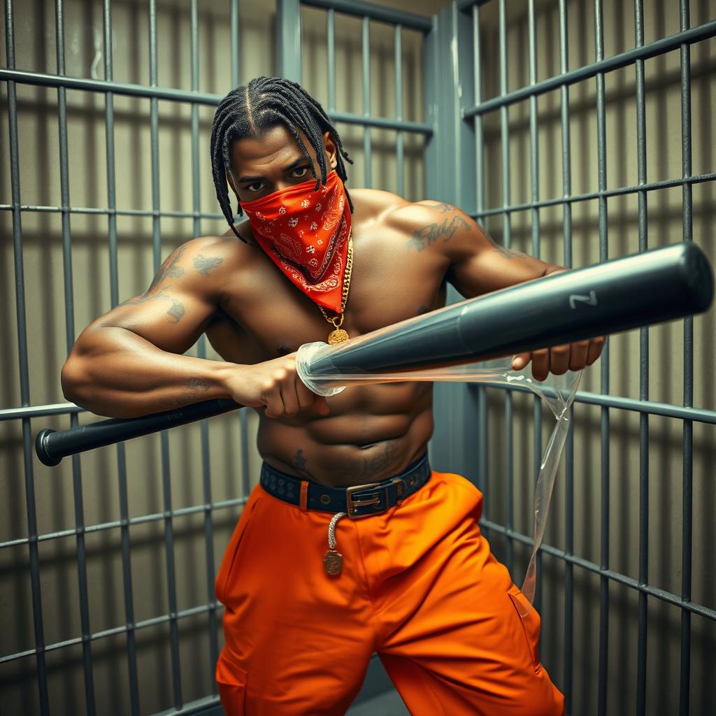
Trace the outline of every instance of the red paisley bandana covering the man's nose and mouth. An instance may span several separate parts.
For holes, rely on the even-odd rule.
[[[296,184],[241,203],[263,251],[292,284],[317,304],[341,312],[351,212],[343,182],[332,171],[326,184]]]

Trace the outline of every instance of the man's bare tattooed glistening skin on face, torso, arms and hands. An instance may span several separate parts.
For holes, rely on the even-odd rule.
[[[304,143],[317,168],[311,145],[305,138]],[[336,166],[336,147],[328,132],[324,145],[330,170]],[[261,198],[311,178],[310,169],[295,167],[301,156],[292,135],[284,127],[275,127],[261,140],[233,145],[232,175],[227,178],[242,201]],[[291,163],[294,166],[284,171]],[[385,191],[348,189],[354,203],[354,258],[342,328],[350,337],[444,306],[448,281],[469,297],[563,270],[496,245],[469,216],[450,204],[411,203]],[[240,370],[289,356],[301,344],[326,341],[333,326],[318,306],[263,253],[248,221],[237,228],[248,243],[231,231],[186,242],[168,257],[145,294],[128,299],[90,324],[75,344],[74,362],[71,354],[63,369],[65,395],[78,404],[84,400],[100,415],[117,416],[143,415],[219,395],[242,402],[236,386],[253,383],[241,382]],[[232,379],[233,370],[233,390],[226,390],[223,379],[215,385],[208,374],[172,383],[171,373],[164,370],[170,365],[168,360],[161,362],[167,354],[158,354],[155,347],[180,355],[201,333],[227,362],[221,366],[223,377]],[[104,342],[98,342],[99,336]],[[137,336],[149,343],[142,347],[133,343],[139,340]],[[541,361],[543,377],[547,369],[565,372],[584,367],[596,360],[602,344],[603,339],[534,352],[533,366],[536,369]],[[110,364],[115,347],[124,363]],[[145,390],[145,410],[135,407],[130,413],[112,407],[113,396],[117,395],[114,400],[120,405],[124,394],[110,377],[100,375],[102,356],[107,356],[107,376],[122,370],[125,382],[134,380],[135,390]],[[190,360],[198,368],[218,369],[206,365],[217,362]],[[138,365],[142,362],[147,375],[156,375],[157,381],[161,376],[166,382],[165,393],[155,395],[148,378],[146,386],[142,383]],[[290,358],[279,365],[290,379]],[[90,366],[92,391],[73,391],[72,376],[87,375]],[[76,382],[79,385],[79,378]],[[295,402],[295,392],[292,395]],[[258,451],[263,459],[286,473],[324,485],[357,485],[395,475],[425,452],[432,435],[432,383],[347,387],[326,398],[327,414],[322,401],[304,405],[305,398],[301,401],[299,396],[299,402],[302,405],[294,415],[278,417],[270,417],[276,410],[267,411],[258,399],[243,404],[253,405],[258,412]]]

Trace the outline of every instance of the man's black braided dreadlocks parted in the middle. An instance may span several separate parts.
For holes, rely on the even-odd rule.
[[[233,223],[231,200],[226,185],[226,173],[231,173],[231,145],[232,142],[243,138],[260,139],[266,132],[280,124],[291,131],[304,157],[311,165],[311,173],[316,180],[315,190],[326,183],[328,174],[323,144],[324,132],[331,132],[331,137],[338,147],[336,173],[343,183],[347,181],[343,160],[353,163],[343,149],[341,138],[323,107],[297,82],[291,82],[290,79],[283,77],[256,77],[248,84],[232,89],[219,102],[211,126],[211,169],[221,211],[226,216],[233,233],[244,243],[246,239],[236,231]],[[318,157],[320,178],[316,174],[316,168],[306,150],[306,145],[301,140],[299,131],[304,133],[311,142],[311,147],[314,148]],[[353,203],[347,191],[346,196],[350,210],[353,211]],[[241,216],[242,213],[239,204],[238,215]]]

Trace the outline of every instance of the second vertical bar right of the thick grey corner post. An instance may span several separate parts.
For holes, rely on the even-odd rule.
[[[505,19],[505,0],[499,6],[499,42],[500,42],[500,95],[507,94],[507,29]],[[506,105],[500,107],[500,149],[502,150],[502,231],[503,245],[510,248],[512,244],[510,213],[506,211],[510,205],[510,115]],[[507,468],[507,516],[505,526],[513,528],[514,505],[514,464],[513,464],[513,417],[512,393],[505,391],[505,465]],[[507,568],[513,574],[515,545],[512,536],[507,543]]]

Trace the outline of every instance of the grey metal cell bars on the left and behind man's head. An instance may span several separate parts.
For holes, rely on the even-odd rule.
[[[231,78],[234,86],[239,84],[239,11],[238,0],[230,1],[230,34],[231,34]],[[369,3],[310,0],[305,5],[313,5],[326,9],[327,33],[329,39],[329,115],[336,122],[344,122],[354,125],[379,127],[392,129],[397,132],[397,164],[398,164],[398,187],[402,192],[404,175],[404,132],[429,137],[432,135],[432,125],[427,122],[411,122],[402,117],[402,35],[403,27],[417,29],[423,34],[431,29],[430,20],[411,13],[392,11],[382,6],[373,6]],[[280,8],[283,9],[283,19],[279,17],[279,26],[284,29],[291,26],[291,41],[284,47],[284,62],[292,62],[292,67],[299,68],[300,72],[300,18],[298,11],[299,3],[296,0],[281,0]],[[179,630],[178,621],[188,616],[207,614],[209,625],[209,642],[212,664],[209,664],[213,677],[213,663],[218,656],[218,640],[216,635],[217,619],[216,610],[221,605],[216,602],[213,594],[214,563],[213,563],[213,521],[214,511],[236,507],[246,503],[246,496],[231,500],[212,501],[211,496],[211,473],[208,452],[208,424],[201,421],[200,435],[202,445],[202,488],[203,505],[192,505],[186,508],[172,508],[170,461],[168,451],[167,432],[163,431],[160,437],[160,451],[162,464],[162,486],[163,486],[163,511],[160,513],[148,514],[137,517],[129,516],[128,495],[127,495],[127,466],[124,443],[117,444],[117,471],[120,519],[108,521],[95,525],[84,524],[83,503],[82,503],[82,475],[80,470],[79,455],[72,457],[73,495],[75,510],[75,526],[52,533],[39,534],[37,531],[36,501],[34,495],[34,475],[32,465],[32,424],[33,417],[46,417],[48,415],[70,416],[71,426],[77,425],[77,413],[81,412],[77,406],[69,403],[57,405],[35,405],[31,406],[29,397],[29,367],[27,359],[27,332],[26,332],[26,311],[24,300],[24,269],[21,233],[21,214],[23,211],[52,212],[62,214],[62,241],[63,241],[63,276],[65,286],[65,314],[66,314],[66,338],[67,351],[74,344],[74,306],[72,301],[72,260],[71,260],[71,226],[70,216],[73,213],[99,214],[107,216],[108,224],[108,248],[110,268],[110,299],[112,307],[119,302],[119,282],[117,263],[117,216],[143,216],[152,217],[153,227],[153,263],[155,270],[161,263],[161,225],[163,217],[192,218],[193,236],[200,236],[200,221],[206,219],[221,219],[221,213],[205,213],[200,211],[200,183],[198,180],[199,151],[198,151],[198,107],[199,105],[218,105],[221,96],[211,95],[198,90],[198,6],[197,0],[190,0],[190,55],[191,55],[191,89],[189,92],[167,87],[160,87],[158,84],[158,59],[157,59],[157,16],[155,0],[149,1],[150,20],[150,85],[145,87],[140,84],[115,82],[112,76],[112,8],[110,0],[103,0],[102,25],[103,25],[103,49],[105,53],[105,79],[84,79],[67,77],[64,74],[64,6],[62,0],[56,0],[56,32],[57,32],[57,74],[41,72],[25,72],[15,67],[14,54],[14,24],[13,24],[13,3],[6,0],[6,58],[7,67],[0,68],[0,79],[6,82],[8,87],[8,114],[10,134],[10,174],[11,174],[11,203],[0,205],[0,211],[10,211],[13,221],[14,238],[14,265],[16,285],[16,311],[18,322],[19,338],[19,369],[20,369],[20,392],[22,405],[16,408],[0,410],[0,420],[22,420],[23,425],[23,455],[26,491],[26,511],[28,523],[28,536],[16,538],[0,543],[0,548],[27,546],[29,548],[30,578],[32,589],[32,605],[34,620],[34,649],[26,649],[23,652],[5,654],[0,656],[0,664],[11,662],[16,659],[34,656],[37,662],[37,678],[39,690],[39,706],[43,716],[49,714],[49,697],[47,689],[47,665],[46,654],[57,649],[82,645],[83,669],[85,683],[85,702],[87,712],[92,714],[96,710],[95,689],[92,674],[92,651],[91,643],[95,639],[125,634],[127,640],[127,671],[130,687],[130,707],[132,716],[140,713],[139,678],[137,671],[137,629],[168,624],[170,634],[170,657],[172,674],[172,695],[174,702],[173,712],[200,712],[204,708],[212,707],[218,702],[216,697],[216,684],[213,682],[213,695],[205,697],[198,702],[185,704],[183,702],[180,654],[179,654]],[[362,66],[363,77],[363,100],[364,112],[362,115],[354,115],[349,112],[337,112],[335,109],[335,44],[334,44],[334,14],[335,12],[358,15],[362,17]],[[280,14],[279,14],[280,15]],[[396,83],[396,118],[390,120],[384,117],[370,116],[370,78],[369,78],[369,21],[382,21],[395,25],[395,83]],[[296,34],[298,28],[298,34]],[[298,39],[298,42],[296,42]],[[286,52],[286,49],[293,47],[294,54]],[[298,59],[296,60],[296,51]],[[59,112],[59,152],[60,152],[60,179],[61,179],[61,205],[23,205],[20,195],[19,179],[19,142],[17,135],[17,107],[16,107],[16,84],[29,84],[40,87],[54,87],[58,92]],[[107,208],[97,207],[73,207],[69,195],[69,161],[67,155],[67,89],[77,89],[87,92],[102,92],[105,95],[105,126],[106,126],[106,158],[107,158]],[[116,205],[116,183],[115,183],[115,142],[114,142],[114,97],[123,95],[128,97],[140,97],[150,100],[150,142],[151,142],[151,172],[152,172],[152,208],[151,210],[139,209],[118,209]],[[160,175],[159,175],[159,112],[158,101],[167,100],[171,102],[189,103],[191,108],[190,126],[192,135],[192,211],[162,211],[160,208]],[[370,138],[369,131],[364,139],[364,149],[367,155],[367,183],[370,183]],[[199,357],[205,357],[205,339],[202,337],[198,342]],[[241,466],[243,476],[244,495],[248,495],[248,427],[246,411],[240,412],[240,430],[243,450],[241,453]],[[206,553],[206,578],[208,603],[190,609],[178,609],[175,580],[175,556],[173,538],[173,520],[177,517],[191,516],[203,513],[204,516],[204,539]],[[130,528],[135,525],[160,522],[164,523],[165,541],[165,563],[168,581],[168,614],[135,621],[134,601],[132,596],[132,567],[130,548]],[[121,553],[122,553],[122,588],[124,596],[126,624],[122,627],[105,629],[102,632],[92,632],[89,624],[89,597],[87,594],[87,560],[84,548],[85,536],[89,533],[97,533],[107,530],[120,531]],[[59,538],[74,536],[77,541],[77,574],[79,580],[79,608],[80,621],[82,625],[82,636],[73,639],[66,639],[54,644],[45,644],[42,622],[42,593],[39,579],[39,543]]]

